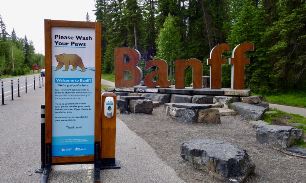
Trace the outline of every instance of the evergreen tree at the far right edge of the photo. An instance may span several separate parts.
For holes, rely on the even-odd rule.
[[[278,88],[306,88],[306,4],[280,0],[276,5],[279,20],[267,29],[265,40],[272,44],[269,55],[275,60]]]

